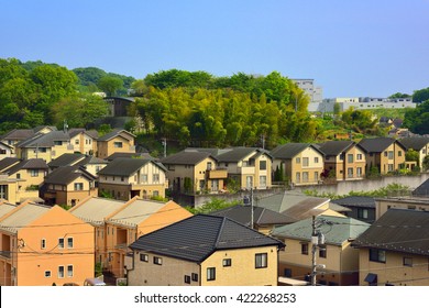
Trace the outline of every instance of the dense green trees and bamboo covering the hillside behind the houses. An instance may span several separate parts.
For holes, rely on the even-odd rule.
[[[178,69],[135,79],[96,67],[67,69],[57,64],[0,59],[0,133],[41,124],[87,128],[108,114],[101,96],[132,96],[127,128],[179,146],[264,146],[314,142],[339,134],[383,135],[373,113],[346,110],[315,117],[309,98],[278,72],[266,76],[238,73],[216,77]],[[395,94],[393,97],[406,97]],[[429,133],[429,88],[417,90],[418,108],[408,110],[404,124]],[[404,114],[404,113],[403,113]]]

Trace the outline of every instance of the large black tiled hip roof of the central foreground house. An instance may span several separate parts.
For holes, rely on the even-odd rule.
[[[264,235],[226,217],[197,215],[139,238],[130,245],[161,255],[202,262],[215,251],[276,245]]]

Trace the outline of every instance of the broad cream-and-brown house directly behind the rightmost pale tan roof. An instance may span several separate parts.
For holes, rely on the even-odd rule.
[[[99,194],[119,200],[165,198],[168,188],[166,168],[152,160],[117,158],[98,172]]]

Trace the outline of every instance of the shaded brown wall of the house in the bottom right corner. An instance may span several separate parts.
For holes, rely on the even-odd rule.
[[[365,277],[369,273],[377,275],[377,284],[393,284],[400,286],[429,285],[429,257],[416,254],[405,254],[386,251],[386,262],[370,261],[370,250],[360,249],[359,284],[367,286]],[[404,265],[404,257],[413,258],[413,266]]]

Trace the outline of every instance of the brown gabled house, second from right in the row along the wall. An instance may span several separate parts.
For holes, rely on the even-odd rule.
[[[366,156],[366,174],[374,168],[380,174],[396,172],[405,165],[405,146],[392,138],[362,139],[358,143]]]

